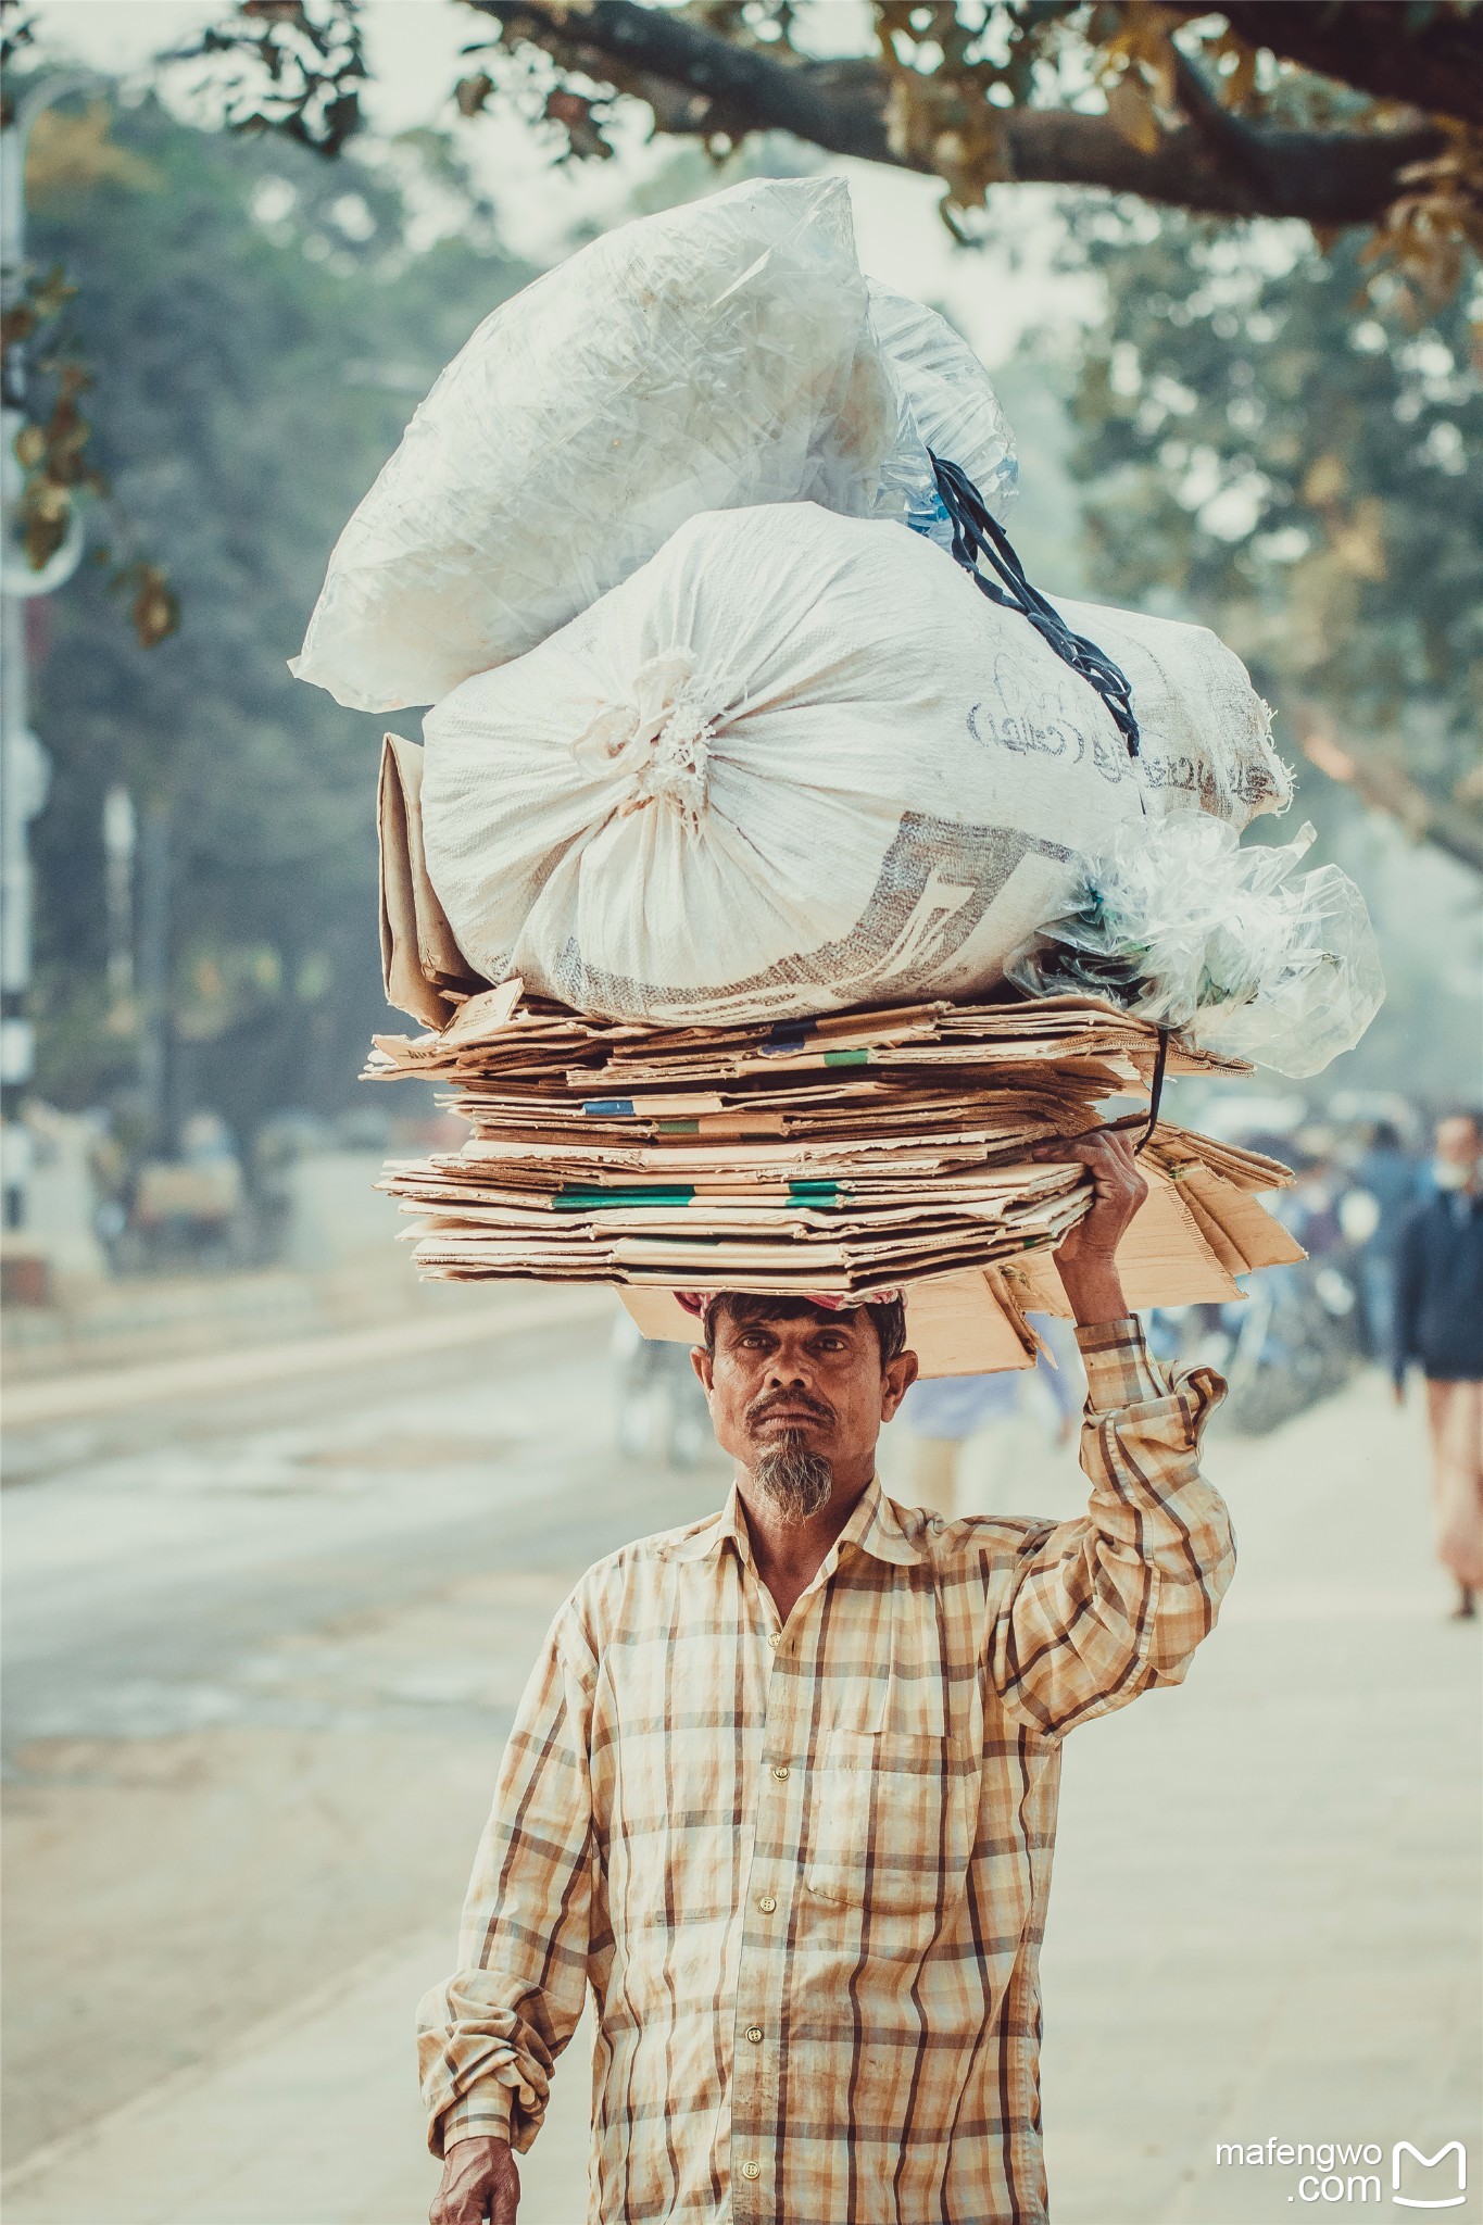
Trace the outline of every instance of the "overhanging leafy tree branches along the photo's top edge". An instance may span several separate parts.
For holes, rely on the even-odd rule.
[[[449,91],[614,154],[616,102],[725,158],[758,131],[943,180],[943,218],[1052,180],[1223,216],[1374,225],[1436,296],[1483,240],[1479,0],[460,0]],[[843,29],[843,38],[840,38]],[[362,0],[236,0],[173,62],[233,131],[338,154],[365,125]]]

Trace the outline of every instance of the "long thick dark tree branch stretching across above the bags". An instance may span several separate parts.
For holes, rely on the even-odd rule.
[[[925,158],[892,147],[883,65],[780,60],[638,0],[465,4],[500,22],[511,42],[527,40],[558,67],[647,100],[663,131],[792,131],[827,154],[932,174]],[[1430,127],[1274,131],[1221,116],[1216,134],[1207,113],[1152,151],[1105,116],[1074,109],[1003,109],[996,125],[1005,176],[1021,182],[1105,187],[1210,216],[1296,216],[1321,227],[1374,222],[1401,191],[1399,171],[1441,147]]]

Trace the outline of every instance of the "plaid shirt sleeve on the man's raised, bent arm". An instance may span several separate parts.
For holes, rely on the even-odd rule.
[[[1043,1736],[1178,1684],[1236,1566],[1225,1502],[1198,1464],[1221,1377],[1165,1375],[1132,1315],[1076,1342],[1092,1500],[1081,1520],[1027,1533],[989,1638],[1001,1700]]]

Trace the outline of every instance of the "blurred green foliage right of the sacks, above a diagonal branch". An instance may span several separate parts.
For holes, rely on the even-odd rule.
[[[1196,612],[1321,770],[1483,866],[1483,389],[1467,305],[1356,314],[1363,249],[1069,211],[1089,572]],[[1399,287],[1403,280],[1390,280]]]

